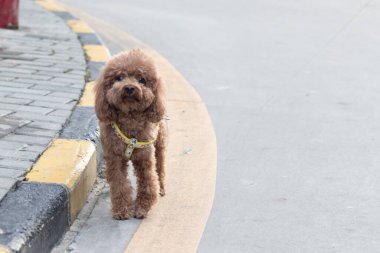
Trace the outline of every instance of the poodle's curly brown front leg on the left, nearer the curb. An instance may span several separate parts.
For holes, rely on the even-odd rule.
[[[110,185],[112,217],[125,220],[133,217],[134,205],[132,186],[128,179],[127,162],[125,159],[113,157],[106,159],[106,177]]]

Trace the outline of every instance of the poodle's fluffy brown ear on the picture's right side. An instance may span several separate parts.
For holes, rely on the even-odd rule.
[[[161,79],[156,81],[155,98],[152,104],[144,111],[145,117],[149,122],[157,123],[165,115],[165,86]]]

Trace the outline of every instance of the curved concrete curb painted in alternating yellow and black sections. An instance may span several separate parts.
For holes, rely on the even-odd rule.
[[[26,181],[1,202],[0,253],[49,252],[70,227],[96,181],[97,119],[92,89],[108,49],[83,21],[53,1],[37,4],[66,21],[78,36],[87,60],[84,91],[60,136],[53,139]],[[98,150],[98,154],[101,150]]]

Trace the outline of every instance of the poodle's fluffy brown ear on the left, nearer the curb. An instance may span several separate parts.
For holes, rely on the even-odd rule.
[[[103,69],[95,83],[95,112],[100,121],[112,122],[116,120],[116,112],[106,99],[106,87],[107,78],[105,77],[105,69]]]

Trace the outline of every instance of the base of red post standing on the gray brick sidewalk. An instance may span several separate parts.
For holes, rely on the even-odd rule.
[[[0,0],[0,28],[18,28],[19,0]]]

